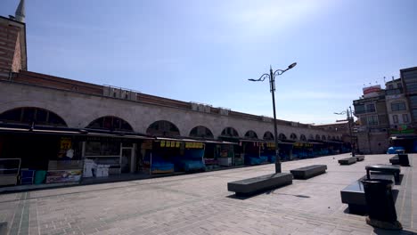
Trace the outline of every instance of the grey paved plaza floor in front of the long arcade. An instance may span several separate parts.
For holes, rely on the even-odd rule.
[[[0,194],[8,234],[413,234],[417,232],[417,174],[401,167],[397,216],[404,230],[382,231],[347,213],[340,190],[364,176],[364,166],[392,155],[367,155],[339,166],[348,154],[284,162],[282,172],[325,164],[326,174],[236,199],[227,182],[274,173],[274,164],[201,174]]]

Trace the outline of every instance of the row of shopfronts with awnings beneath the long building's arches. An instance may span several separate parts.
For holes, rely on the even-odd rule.
[[[82,129],[2,122],[0,186],[79,184],[126,174],[146,178],[275,161],[274,139],[222,133],[215,140],[200,132],[181,137],[172,126],[161,128],[166,123],[150,126],[148,134],[138,134],[124,125],[123,120],[111,117],[99,118]],[[342,151],[347,150],[341,142],[279,143],[284,161]]]

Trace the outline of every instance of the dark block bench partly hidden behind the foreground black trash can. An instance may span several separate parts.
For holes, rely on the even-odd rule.
[[[364,195],[364,185],[362,180],[367,179],[367,176],[361,177],[355,182],[352,182],[345,189],[340,191],[342,203],[346,203],[349,208],[349,213],[364,214],[366,213],[366,199]],[[371,174],[371,179],[383,179],[394,182],[392,174]]]

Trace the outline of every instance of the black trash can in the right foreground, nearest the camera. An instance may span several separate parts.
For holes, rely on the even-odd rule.
[[[392,181],[383,179],[362,180],[368,215],[372,220],[397,222],[396,205],[392,197]]]

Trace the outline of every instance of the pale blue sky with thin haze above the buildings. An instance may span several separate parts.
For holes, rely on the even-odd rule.
[[[18,0],[1,0],[14,14]],[[364,84],[417,66],[415,0],[27,0],[29,70],[277,118],[331,123]],[[352,107],[353,108],[353,107]]]

